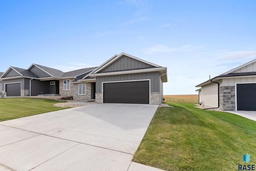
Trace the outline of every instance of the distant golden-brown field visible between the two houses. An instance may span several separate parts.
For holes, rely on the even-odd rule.
[[[165,102],[198,103],[198,94],[164,95]]]

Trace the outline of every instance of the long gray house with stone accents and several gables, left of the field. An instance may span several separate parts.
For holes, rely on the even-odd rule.
[[[38,64],[27,70],[9,67],[0,80],[8,96],[52,94],[96,103],[160,104],[167,68],[121,53],[99,67],[71,72]]]

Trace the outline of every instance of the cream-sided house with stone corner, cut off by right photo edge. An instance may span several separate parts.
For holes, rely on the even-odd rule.
[[[204,108],[256,111],[256,59],[196,87]]]

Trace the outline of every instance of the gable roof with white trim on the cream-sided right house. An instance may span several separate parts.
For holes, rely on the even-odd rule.
[[[240,65],[232,70],[229,70],[228,72],[225,72],[223,74],[220,74],[219,76],[216,76],[210,80],[207,80],[206,82],[203,82],[201,84],[198,84],[196,85],[196,87],[201,87],[202,85],[204,84],[208,84],[210,82],[212,82],[212,80],[216,80],[217,78],[228,78],[228,77],[241,77],[241,76],[255,76],[256,75],[256,71],[254,72],[252,70],[252,72],[237,72],[235,73],[236,71],[240,70],[241,68],[244,68],[246,66],[249,66],[249,65],[252,65],[254,62],[256,62],[256,59],[250,61],[250,62],[247,62],[243,65]],[[256,68],[256,67],[255,67]]]

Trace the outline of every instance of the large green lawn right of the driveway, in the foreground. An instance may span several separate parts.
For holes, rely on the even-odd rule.
[[[167,104],[174,107],[158,107],[132,161],[169,171],[230,171],[256,164],[255,121],[192,103]]]

